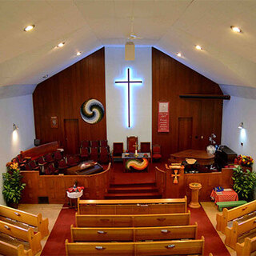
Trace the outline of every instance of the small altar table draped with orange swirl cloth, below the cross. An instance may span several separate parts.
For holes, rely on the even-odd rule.
[[[138,160],[139,159],[139,160]],[[147,170],[150,163],[150,153],[122,153],[124,172],[130,170]]]

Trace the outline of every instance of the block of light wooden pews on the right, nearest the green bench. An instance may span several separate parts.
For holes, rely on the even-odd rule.
[[[238,256],[250,256],[256,251],[256,200],[216,216],[216,229],[226,235],[225,244]]]

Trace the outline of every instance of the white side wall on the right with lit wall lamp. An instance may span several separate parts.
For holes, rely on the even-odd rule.
[[[224,101],[222,116],[222,144],[237,154],[246,154],[256,161],[256,100],[231,96]],[[238,129],[240,122],[245,129]],[[241,145],[243,142],[243,146]]]

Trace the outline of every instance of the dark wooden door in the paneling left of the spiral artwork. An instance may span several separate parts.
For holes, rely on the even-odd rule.
[[[65,152],[66,154],[79,153],[78,119],[64,119]]]

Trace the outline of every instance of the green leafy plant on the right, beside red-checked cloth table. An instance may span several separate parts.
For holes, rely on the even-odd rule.
[[[239,199],[251,201],[256,185],[256,174],[250,170],[244,171],[241,166],[233,169],[234,191],[238,193]]]

